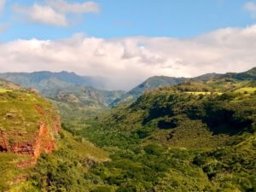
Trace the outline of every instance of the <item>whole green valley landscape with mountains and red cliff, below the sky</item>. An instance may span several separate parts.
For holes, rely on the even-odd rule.
[[[256,190],[256,67],[127,92],[66,72],[0,78],[0,191]]]

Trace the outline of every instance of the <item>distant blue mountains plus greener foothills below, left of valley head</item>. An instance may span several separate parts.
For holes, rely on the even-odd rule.
[[[104,79],[83,77],[75,73],[0,73],[0,78],[38,90],[55,103],[61,115],[71,112],[76,112],[73,116],[90,115],[108,108],[111,102],[124,94],[120,90],[96,89],[103,87]]]

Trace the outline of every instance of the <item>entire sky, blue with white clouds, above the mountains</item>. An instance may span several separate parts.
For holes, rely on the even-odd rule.
[[[0,0],[0,72],[69,71],[129,90],[256,66],[256,1]]]

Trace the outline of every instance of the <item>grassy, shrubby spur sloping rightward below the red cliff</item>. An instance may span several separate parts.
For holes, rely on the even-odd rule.
[[[61,132],[57,144],[52,154],[42,154],[37,166],[23,171],[28,179],[13,183],[10,191],[88,191],[89,183],[84,179],[88,169],[96,163],[107,161],[108,153],[81,137],[73,137],[67,131]],[[20,174],[20,169],[16,170]],[[14,170],[10,172],[16,173]]]

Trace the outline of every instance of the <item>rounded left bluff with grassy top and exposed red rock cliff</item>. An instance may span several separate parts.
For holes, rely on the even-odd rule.
[[[26,178],[42,153],[55,149],[61,129],[53,106],[37,93],[0,80],[0,191]]]

